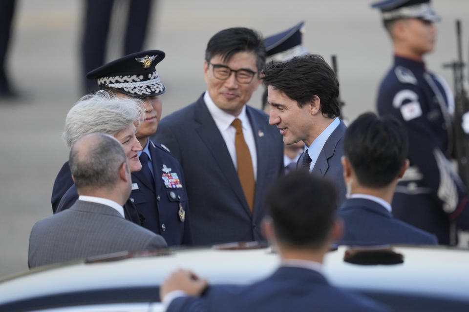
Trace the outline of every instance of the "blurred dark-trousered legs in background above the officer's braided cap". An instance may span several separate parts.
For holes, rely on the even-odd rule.
[[[85,79],[85,74],[105,63],[111,31],[120,32],[116,35],[118,38],[115,43],[120,46],[113,47],[113,50],[119,51],[117,57],[143,50],[152,5],[153,0],[85,0],[82,38],[82,77],[85,94],[98,90],[96,81]],[[111,23],[114,16],[116,22]],[[115,30],[110,28],[111,24],[116,26]],[[122,25],[125,25],[125,30]]]

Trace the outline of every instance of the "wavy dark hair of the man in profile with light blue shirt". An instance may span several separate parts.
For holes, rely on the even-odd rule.
[[[320,55],[305,55],[282,63],[269,64],[263,74],[265,86],[272,86],[297,101],[299,107],[320,98],[320,109],[324,117],[341,115],[339,81]]]

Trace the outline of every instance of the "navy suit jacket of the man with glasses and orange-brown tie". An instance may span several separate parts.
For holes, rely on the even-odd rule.
[[[246,106],[257,152],[254,213],[203,95],[163,118],[154,140],[165,144],[182,165],[191,204],[194,244],[263,239],[260,229],[264,197],[283,169],[283,139],[269,117]]]

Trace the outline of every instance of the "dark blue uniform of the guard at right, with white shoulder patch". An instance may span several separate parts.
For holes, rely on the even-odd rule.
[[[399,182],[393,214],[455,244],[453,225],[469,228],[468,194],[450,164],[453,96],[446,82],[425,64],[396,56],[378,93],[380,116],[397,117],[407,129],[410,168]],[[453,231],[454,232],[454,231]]]

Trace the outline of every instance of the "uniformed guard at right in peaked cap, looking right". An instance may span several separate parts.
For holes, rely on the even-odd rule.
[[[457,230],[469,229],[469,197],[453,168],[454,96],[447,82],[426,69],[441,18],[429,0],[386,0],[382,12],[391,37],[394,64],[381,82],[380,116],[400,120],[409,137],[410,167],[396,187],[393,215],[436,234],[440,244],[457,244]]]

